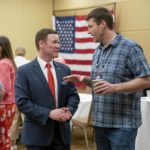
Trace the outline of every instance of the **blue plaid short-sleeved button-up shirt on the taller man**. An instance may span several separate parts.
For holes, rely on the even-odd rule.
[[[118,34],[110,45],[100,45],[94,55],[91,78],[122,83],[149,76],[150,68],[142,48]],[[142,91],[93,94],[93,125],[108,128],[137,128],[141,125]]]

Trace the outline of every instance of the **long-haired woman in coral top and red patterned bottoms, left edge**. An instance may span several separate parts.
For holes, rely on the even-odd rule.
[[[16,65],[10,41],[5,36],[0,36],[0,82],[5,93],[0,102],[0,150],[10,150],[10,127],[16,111],[14,82]]]

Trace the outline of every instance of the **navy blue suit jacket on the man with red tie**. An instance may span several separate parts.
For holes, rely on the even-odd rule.
[[[72,114],[79,104],[79,96],[73,83],[63,82],[70,69],[54,61],[58,81],[58,108],[68,107]],[[18,68],[15,83],[16,103],[25,114],[21,141],[26,145],[50,145],[54,137],[55,121],[49,113],[54,109],[54,97],[37,59]],[[70,144],[70,124],[60,122],[62,142]]]

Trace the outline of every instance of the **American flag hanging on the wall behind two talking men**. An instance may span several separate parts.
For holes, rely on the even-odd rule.
[[[97,45],[87,32],[85,16],[55,17],[55,29],[60,37],[60,55],[72,73],[90,76],[92,56]]]

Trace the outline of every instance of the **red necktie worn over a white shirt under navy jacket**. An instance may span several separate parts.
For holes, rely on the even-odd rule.
[[[51,92],[52,92],[52,94],[54,96],[54,102],[55,102],[55,107],[56,107],[55,84],[54,84],[53,74],[52,74],[52,71],[51,71],[51,64],[47,63],[46,67],[47,67],[48,84],[49,84]]]

